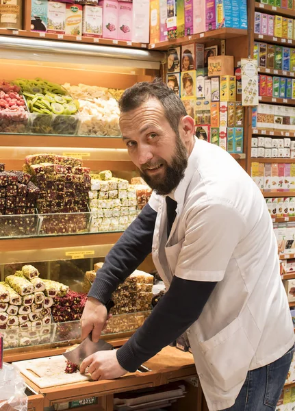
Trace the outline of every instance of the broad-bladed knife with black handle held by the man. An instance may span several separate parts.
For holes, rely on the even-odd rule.
[[[107,313],[109,313],[110,309],[114,307],[114,301],[107,301],[105,307],[107,308]],[[97,351],[105,351],[113,348],[114,347],[110,343],[107,343],[105,340],[99,340],[97,343],[94,343],[92,341],[92,333],[90,333],[85,338],[85,340],[83,340],[81,344],[78,345],[77,348],[71,351],[67,351],[62,355],[66,357],[68,361],[73,362],[73,364],[81,365],[81,362],[85,360],[86,357],[91,356]]]

